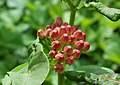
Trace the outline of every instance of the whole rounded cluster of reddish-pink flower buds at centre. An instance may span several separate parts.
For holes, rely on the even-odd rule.
[[[75,59],[80,58],[81,51],[87,51],[90,43],[85,42],[86,34],[77,26],[71,26],[58,17],[53,25],[47,25],[46,30],[38,30],[41,39],[51,39],[52,50],[49,56],[56,61],[54,69],[58,73],[64,71],[63,64],[72,65]]]

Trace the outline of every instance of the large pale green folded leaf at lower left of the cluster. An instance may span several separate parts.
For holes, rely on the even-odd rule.
[[[11,72],[8,72],[8,76],[12,85],[40,85],[43,83],[49,72],[49,61],[47,56],[42,50],[40,43],[35,43],[32,57],[28,63],[22,64]],[[4,83],[3,85],[8,85]],[[9,82],[8,82],[9,83]]]

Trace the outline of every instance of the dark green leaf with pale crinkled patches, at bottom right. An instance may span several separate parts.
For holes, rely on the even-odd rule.
[[[118,74],[108,68],[94,65],[80,66],[79,70],[65,71],[64,75],[69,80],[90,85],[118,85],[120,83]]]

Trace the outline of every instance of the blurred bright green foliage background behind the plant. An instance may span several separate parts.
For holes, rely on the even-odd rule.
[[[120,0],[100,2],[120,9]],[[0,83],[6,72],[27,61],[27,48],[37,30],[52,24],[57,16],[69,22],[69,6],[61,0],[0,0]],[[73,68],[94,64],[120,73],[120,20],[112,22],[93,8],[82,8],[75,25],[86,33],[91,48]],[[54,78],[55,73],[50,72],[44,85],[56,85]],[[66,82],[68,85],[69,80]]]

